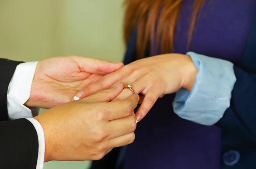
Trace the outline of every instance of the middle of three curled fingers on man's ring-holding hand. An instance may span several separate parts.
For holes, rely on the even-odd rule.
[[[119,118],[116,120],[111,120],[108,123],[108,135],[109,139],[120,137],[122,135],[127,135],[131,132],[134,132],[136,129],[136,120],[135,115],[130,115],[128,117]]]

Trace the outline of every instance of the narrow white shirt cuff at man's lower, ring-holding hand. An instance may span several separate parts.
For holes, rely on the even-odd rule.
[[[36,164],[36,169],[44,168],[44,152],[45,152],[45,142],[44,142],[44,130],[38,120],[34,118],[27,118],[33,126],[38,134],[38,160]]]

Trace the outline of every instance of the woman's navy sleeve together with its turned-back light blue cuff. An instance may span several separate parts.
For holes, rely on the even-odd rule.
[[[191,92],[177,92],[174,112],[256,141],[256,74],[227,60],[188,54],[198,68],[197,78]]]

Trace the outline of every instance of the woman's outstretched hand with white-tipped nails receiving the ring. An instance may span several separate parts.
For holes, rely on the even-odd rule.
[[[140,121],[158,97],[177,92],[180,88],[191,90],[196,73],[197,69],[188,55],[162,54],[137,60],[116,72],[105,75],[86,86],[76,96],[84,98],[102,89],[108,89],[118,82],[131,84],[136,94],[145,95],[136,113],[137,121]],[[120,95],[119,98],[124,98],[127,94]]]

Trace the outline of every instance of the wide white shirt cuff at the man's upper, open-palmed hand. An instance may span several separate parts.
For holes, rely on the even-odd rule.
[[[29,109],[24,103],[30,97],[32,81],[38,62],[20,63],[9,83],[7,93],[8,115],[10,120],[30,118],[38,115],[39,109]]]

